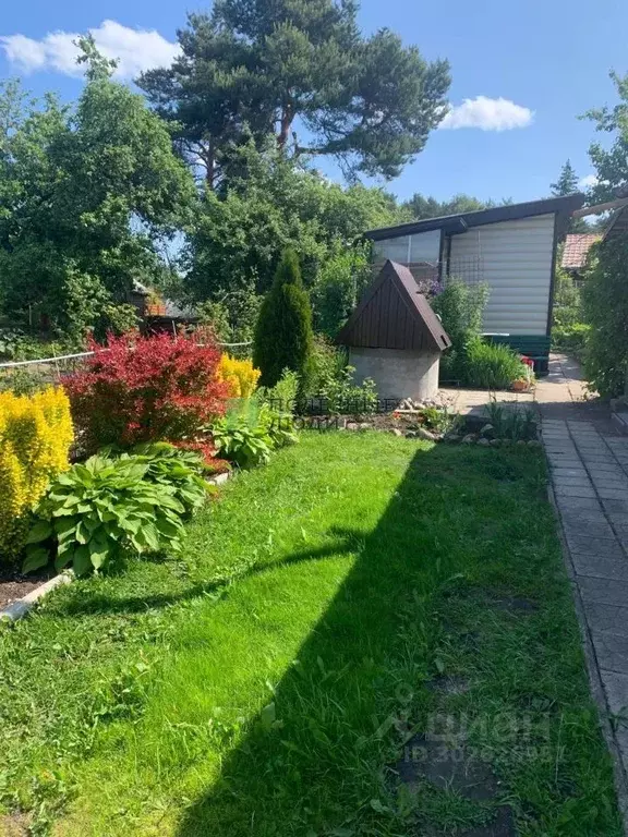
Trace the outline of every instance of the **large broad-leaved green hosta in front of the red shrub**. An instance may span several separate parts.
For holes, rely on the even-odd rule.
[[[183,519],[214,490],[201,469],[201,457],[171,446],[73,465],[36,509],[24,572],[55,561],[85,575],[126,555],[181,549]]]

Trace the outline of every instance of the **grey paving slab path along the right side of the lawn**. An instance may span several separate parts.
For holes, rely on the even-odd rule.
[[[577,364],[552,356],[550,377],[552,384],[535,393],[542,440],[591,692],[628,834],[628,438],[617,435],[607,408],[587,401]]]

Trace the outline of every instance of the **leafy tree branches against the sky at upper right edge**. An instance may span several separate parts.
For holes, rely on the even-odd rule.
[[[592,186],[590,203],[613,201],[624,194],[628,183],[628,74],[611,73],[619,102],[613,108],[590,110],[584,118],[595,122],[601,133],[613,135],[613,143],[593,143],[589,156],[596,170],[597,183]]]

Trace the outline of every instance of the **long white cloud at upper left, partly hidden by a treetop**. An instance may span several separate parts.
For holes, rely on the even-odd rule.
[[[177,56],[179,47],[166,40],[155,29],[132,29],[116,21],[102,21],[89,29],[96,46],[106,58],[118,59],[116,75],[133,78],[144,70],[167,66]],[[53,70],[64,75],[82,75],[76,64],[78,49],[74,41],[78,33],[50,32],[40,40],[25,35],[0,36],[0,46],[11,63],[25,73]]]

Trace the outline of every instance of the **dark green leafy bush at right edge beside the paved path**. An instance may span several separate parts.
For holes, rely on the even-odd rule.
[[[628,240],[617,235],[595,247],[582,289],[591,324],[584,366],[588,380],[607,398],[624,392],[628,374]]]

